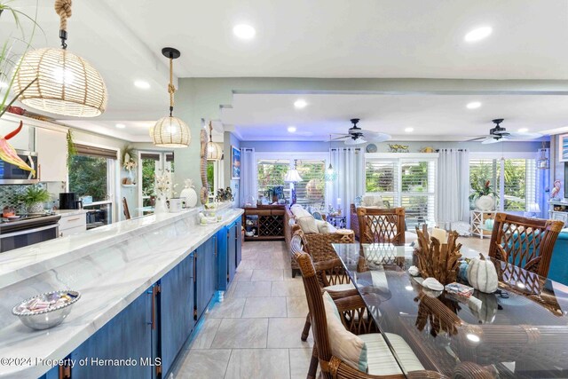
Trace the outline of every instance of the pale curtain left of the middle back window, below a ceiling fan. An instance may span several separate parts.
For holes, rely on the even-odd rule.
[[[330,156],[337,178],[328,183],[327,202],[342,209],[349,228],[351,203],[365,192],[365,153],[359,148],[332,148]]]

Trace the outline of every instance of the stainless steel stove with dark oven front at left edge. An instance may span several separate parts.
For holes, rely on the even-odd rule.
[[[0,220],[0,253],[59,236],[59,215],[22,215]]]

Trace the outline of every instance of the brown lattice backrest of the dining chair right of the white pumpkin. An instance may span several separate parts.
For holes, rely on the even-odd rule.
[[[564,223],[497,213],[489,244],[489,257],[527,271],[548,276],[552,249]]]

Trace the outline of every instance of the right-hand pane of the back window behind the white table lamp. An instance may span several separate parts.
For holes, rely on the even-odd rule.
[[[310,205],[325,209],[326,206],[326,161],[301,160],[296,162],[296,170],[302,181],[296,183],[296,202],[303,206]]]

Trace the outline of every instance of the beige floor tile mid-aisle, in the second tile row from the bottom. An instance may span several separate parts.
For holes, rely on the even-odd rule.
[[[211,348],[264,349],[267,335],[268,319],[223,319]]]

